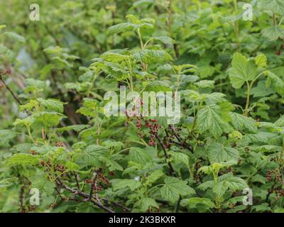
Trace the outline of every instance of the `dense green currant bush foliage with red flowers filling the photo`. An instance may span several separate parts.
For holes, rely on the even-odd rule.
[[[30,4],[0,2],[1,212],[284,211],[284,1]],[[180,122],[106,116],[121,85]]]

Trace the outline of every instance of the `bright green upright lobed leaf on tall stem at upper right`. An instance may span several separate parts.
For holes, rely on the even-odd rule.
[[[244,82],[249,82],[256,77],[257,67],[253,60],[247,60],[239,52],[234,53],[231,62],[232,68],[229,69],[229,77],[234,88],[239,89]]]

